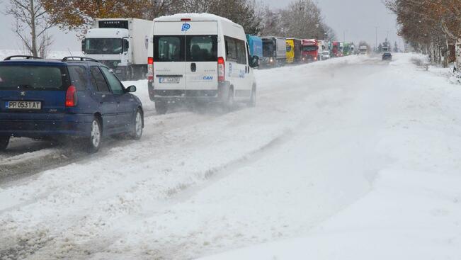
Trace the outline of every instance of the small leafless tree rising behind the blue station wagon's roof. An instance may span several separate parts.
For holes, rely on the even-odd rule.
[[[6,14],[13,16],[13,31],[30,55],[46,55],[52,45],[47,30],[55,26],[38,0],[10,0]]]

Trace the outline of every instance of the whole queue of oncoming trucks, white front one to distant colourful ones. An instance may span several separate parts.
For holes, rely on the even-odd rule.
[[[105,64],[122,80],[143,79],[147,74],[147,47],[153,21],[137,18],[96,18],[81,42],[81,50]],[[316,39],[246,35],[251,55],[261,67],[281,67],[342,57],[350,45]]]

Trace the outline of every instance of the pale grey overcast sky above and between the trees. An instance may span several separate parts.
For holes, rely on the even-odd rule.
[[[2,0],[0,0],[2,1]],[[273,9],[288,6],[289,0],[263,0]],[[6,9],[8,0],[0,3],[0,10]],[[375,45],[375,26],[378,28],[378,42],[382,42],[389,33],[392,43],[402,44],[396,34],[395,16],[382,4],[381,0],[317,0],[326,23],[336,32],[338,40],[353,41],[358,44],[366,40]],[[21,42],[11,30],[13,19],[0,13],[0,49],[22,49]],[[80,50],[80,43],[74,33],[64,33],[58,29],[50,31],[54,35],[53,50]]]

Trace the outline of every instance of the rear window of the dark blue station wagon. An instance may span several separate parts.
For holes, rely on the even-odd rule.
[[[0,90],[64,90],[69,86],[64,67],[45,65],[0,65]]]

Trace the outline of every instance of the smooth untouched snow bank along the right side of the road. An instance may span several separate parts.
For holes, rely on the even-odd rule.
[[[461,90],[418,69],[415,58],[394,55],[393,68],[380,74],[386,84],[370,86],[396,103],[394,113],[376,115],[385,125],[375,152],[386,163],[366,196],[296,239],[203,260],[460,258]]]

